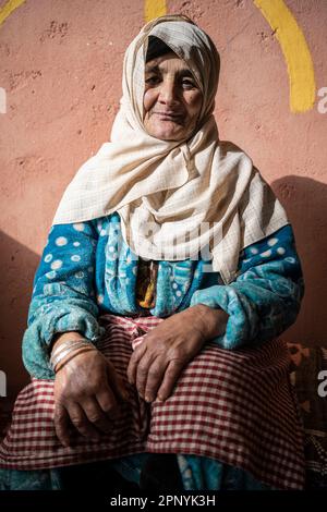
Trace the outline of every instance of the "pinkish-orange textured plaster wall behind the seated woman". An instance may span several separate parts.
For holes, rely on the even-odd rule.
[[[21,3],[0,25],[0,369],[12,393],[27,378],[21,339],[52,216],[76,169],[109,137],[123,53],[144,24],[142,0]],[[284,3],[306,39],[317,94],[327,87],[327,2]],[[286,338],[327,346],[327,113],[318,112],[318,96],[310,110],[291,111],[279,27],[252,0],[171,0],[167,11],[190,15],[217,44],[220,137],[252,156],[293,223],[306,295]]]

